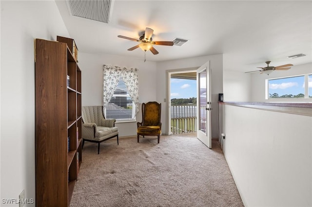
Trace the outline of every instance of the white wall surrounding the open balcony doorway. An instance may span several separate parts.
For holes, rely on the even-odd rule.
[[[169,100],[168,97],[168,79],[166,73],[168,70],[173,69],[185,69],[185,68],[195,68],[200,67],[207,61],[210,61],[210,68],[212,69],[211,74],[211,86],[212,86],[212,137],[218,138],[218,94],[223,92],[223,55],[207,55],[194,58],[178,59],[173,61],[165,61],[157,63],[157,102],[162,103],[162,114],[161,122],[163,124],[163,130],[166,130],[168,134],[169,126],[168,119],[169,116],[169,103],[168,101],[164,103],[164,99]],[[164,116],[163,116],[164,115]]]

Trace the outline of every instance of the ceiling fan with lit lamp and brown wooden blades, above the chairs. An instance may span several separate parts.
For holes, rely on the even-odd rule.
[[[132,48],[129,48],[128,51],[133,51],[137,48],[141,48],[144,52],[149,50],[153,54],[158,54],[159,52],[156,51],[156,49],[153,47],[153,45],[165,45],[165,46],[173,46],[174,45],[173,41],[153,41],[153,39],[152,39],[153,32],[154,32],[153,29],[147,27],[145,29],[144,34],[141,35],[139,39],[135,39],[135,38],[127,37],[127,36],[122,36],[122,35],[118,35],[118,37],[139,42],[138,45],[136,45]],[[144,55],[144,62],[145,61],[146,61],[146,56]]]

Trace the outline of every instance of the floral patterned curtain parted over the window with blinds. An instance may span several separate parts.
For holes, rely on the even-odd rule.
[[[138,112],[138,69],[121,68],[117,66],[103,65],[103,106],[109,103],[116,90],[118,80],[121,77],[125,82],[129,95],[135,104],[135,114]]]

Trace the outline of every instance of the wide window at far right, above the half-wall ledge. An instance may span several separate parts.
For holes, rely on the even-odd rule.
[[[312,82],[312,75],[308,75],[308,74],[294,76],[294,77],[268,79],[267,99],[312,98],[311,82]]]

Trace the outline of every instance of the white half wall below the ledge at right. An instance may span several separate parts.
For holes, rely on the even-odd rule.
[[[312,206],[312,117],[227,104],[224,115],[223,153],[245,206]]]

